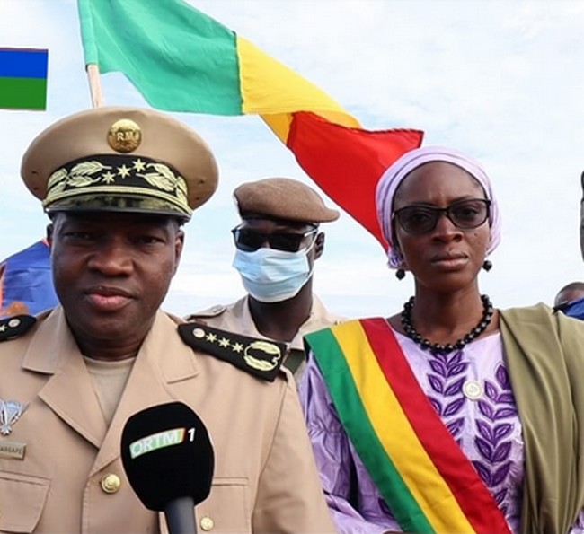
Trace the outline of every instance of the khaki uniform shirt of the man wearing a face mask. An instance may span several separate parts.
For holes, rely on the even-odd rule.
[[[232,304],[227,304],[226,306],[212,306],[211,308],[208,308],[208,310],[193,313],[186,319],[201,321],[209,327],[221,328],[222,330],[242,334],[243,336],[267,339],[267,337],[262,336],[261,333],[258,332],[258,329],[253,322],[247,296],[244,296],[242,299],[233,302]],[[310,334],[310,332],[320,330],[321,328],[332,327],[333,325],[340,324],[345,320],[346,318],[328,311],[324,307],[323,302],[321,302],[316,295],[313,295],[313,308],[310,311],[310,316],[300,326],[296,332],[296,336],[288,344],[291,355],[296,355],[298,358],[301,357],[302,362],[290,365],[289,362],[291,356],[288,357],[288,362],[286,360],[284,361],[284,365],[294,372],[296,382],[300,381],[302,373],[306,367],[303,337],[306,334]]]

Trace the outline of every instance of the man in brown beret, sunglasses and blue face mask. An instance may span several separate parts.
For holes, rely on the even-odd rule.
[[[235,188],[241,223],[232,230],[234,267],[247,295],[187,320],[289,344],[284,365],[296,382],[305,369],[303,336],[343,320],[313,293],[314,262],[323,255],[324,232],[339,212],[304,183],[268,178]]]

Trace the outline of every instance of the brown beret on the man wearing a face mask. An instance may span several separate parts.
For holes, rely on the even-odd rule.
[[[339,212],[324,206],[323,199],[296,179],[267,178],[242,184],[234,190],[242,218],[265,216],[299,223],[330,223]]]

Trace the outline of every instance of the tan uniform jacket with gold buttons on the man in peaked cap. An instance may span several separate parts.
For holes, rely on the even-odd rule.
[[[215,449],[199,532],[334,531],[289,373],[261,381],[195,352],[177,322],[157,314],[109,428],[61,308],[0,343],[0,398],[28,403],[0,435],[0,532],[164,531],[128,484],[120,434],[129,416],[173,400],[195,410]],[[26,444],[22,460],[6,453],[11,442]]]

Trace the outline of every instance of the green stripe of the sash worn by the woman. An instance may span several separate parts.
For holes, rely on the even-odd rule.
[[[432,534],[432,526],[387,456],[369,421],[349,364],[332,330],[327,328],[308,334],[305,341],[313,349],[341,423],[369,476],[384,496],[385,502],[391,506],[395,521],[404,531]]]

